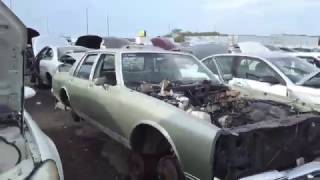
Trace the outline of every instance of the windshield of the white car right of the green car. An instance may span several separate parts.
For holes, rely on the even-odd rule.
[[[313,65],[295,57],[269,58],[269,61],[277,66],[293,83],[319,71]]]

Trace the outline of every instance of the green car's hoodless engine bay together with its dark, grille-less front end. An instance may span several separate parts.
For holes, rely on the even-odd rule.
[[[222,128],[215,142],[214,177],[239,179],[281,171],[320,157],[320,118],[273,101],[240,98],[209,81],[163,81],[137,89]],[[320,173],[320,172],[319,172]]]

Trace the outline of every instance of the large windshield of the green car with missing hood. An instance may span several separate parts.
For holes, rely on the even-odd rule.
[[[163,80],[181,84],[203,80],[219,82],[197,59],[182,54],[125,53],[122,55],[122,72],[127,86],[140,82],[157,84]]]

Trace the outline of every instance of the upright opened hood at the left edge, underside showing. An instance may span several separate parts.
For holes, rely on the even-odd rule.
[[[21,112],[27,29],[0,1],[0,109]]]

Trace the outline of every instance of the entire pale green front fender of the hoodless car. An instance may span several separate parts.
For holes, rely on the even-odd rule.
[[[183,170],[200,179],[211,178],[212,148],[219,132],[217,127],[128,88],[119,88],[114,95],[119,104],[111,111],[118,112],[115,119],[125,138],[130,139],[139,124],[157,124],[174,143]]]

